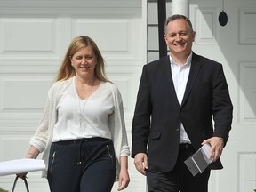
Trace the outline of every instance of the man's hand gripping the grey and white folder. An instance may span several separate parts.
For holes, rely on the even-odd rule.
[[[202,145],[206,143],[211,146],[209,156],[213,158],[213,162],[217,161],[220,158],[222,150],[224,148],[224,140],[220,137],[212,137],[208,140],[204,140],[202,142]]]

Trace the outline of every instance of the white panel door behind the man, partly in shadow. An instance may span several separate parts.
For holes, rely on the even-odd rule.
[[[196,30],[194,51],[224,66],[234,120],[221,156],[224,169],[212,171],[210,192],[253,192],[256,188],[256,1],[224,0],[228,24],[218,23],[222,1],[190,1]]]

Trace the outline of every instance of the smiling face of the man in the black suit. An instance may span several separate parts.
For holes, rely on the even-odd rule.
[[[189,30],[186,20],[172,20],[166,26],[164,39],[174,57],[188,57],[196,33]]]

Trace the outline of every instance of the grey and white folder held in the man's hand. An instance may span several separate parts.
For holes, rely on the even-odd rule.
[[[211,146],[209,144],[204,144],[199,148],[195,154],[189,156],[189,158],[184,162],[189,171],[195,176],[197,173],[202,173],[207,168],[209,164],[212,163],[212,157],[209,157]]]

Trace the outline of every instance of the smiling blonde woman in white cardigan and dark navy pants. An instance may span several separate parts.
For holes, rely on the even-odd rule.
[[[108,192],[117,179],[118,190],[130,182],[123,101],[104,68],[93,40],[75,37],[27,154],[44,151],[52,192]]]

